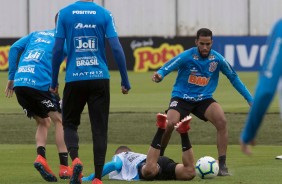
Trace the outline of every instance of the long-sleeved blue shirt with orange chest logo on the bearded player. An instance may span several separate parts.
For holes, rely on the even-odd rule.
[[[218,52],[211,50],[208,57],[203,58],[197,47],[188,49],[168,61],[157,73],[165,77],[170,72],[178,70],[173,86],[172,97],[179,97],[186,101],[202,101],[211,98],[221,71],[235,89],[249,102],[252,95],[241,82],[230,64]]]

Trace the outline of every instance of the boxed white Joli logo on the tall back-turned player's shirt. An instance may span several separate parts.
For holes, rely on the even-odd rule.
[[[97,51],[98,39],[95,36],[75,37],[74,47],[76,52]]]

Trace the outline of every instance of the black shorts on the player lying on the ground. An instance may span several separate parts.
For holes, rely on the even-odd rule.
[[[148,180],[142,176],[142,172],[141,172],[141,169],[144,166],[145,162],[146,160],[144,160],[143,163],[139,165],[138,174],[140,179]],[[160,156],[158,159],[158,164],[160,166],[159,173],[155,177],[149,180],[176,180],[176,175],[175,175],[175,168],[177,165],[176,162],[174,162],[172,159],[166,156]]]

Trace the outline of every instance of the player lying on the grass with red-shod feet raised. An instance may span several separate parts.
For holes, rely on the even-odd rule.
[[[194,154],[188,137],[191,116],[187,116],[176,126],[182,142],[182,163],[160,156],[160,143],[166,127],[166,115],[157,114],[158,130],[152,140],[147,155],[132,152],[120,146],[112,161],[105,164],[102,176],[109,174],[114,180],[192,180],[195,175]],[[84,177],[83,181],[93,180],[95,174]]]

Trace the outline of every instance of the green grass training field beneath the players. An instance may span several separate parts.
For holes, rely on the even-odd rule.
[[[254,91],[257,73],[238,73],[241,80]],[[119,145],[130,145],[137,151],[146,153],[155,133],[155,114],[163,112],[170,99],[170,91],[176,74],[172,73],[159,84],[151,82],[152,72],[129,73],[132,90],[128,95],[120,92],[120,77],[118,72],[111,72],[111,113],[109,121],[109,146],[106,160],[111,159],[112,153]],[[64,74],[60,75],[60,91],[63,90]],[[0,72],[0,183],[45,183],[33,168],[36,156],[34,135],[35,123],[26,118],[17,104],[15,96],[7,99],[4,95],[7,73]],[[231,86],[229,81],[221,76],[214,98],[222,105],[226,112],[229,129],[229,147],[227,164],[231,177],[217,177],[211,180],[195,178],[189,183],[274,183],[282,181],[282,160],[275,160],[276,155],[282,154],[282,121],[278,115],[278,102],[275,97],[269,113],[257,137],[257,146],[251,157],[240,152],[238,139],[246,114],[248,104]],[[87,108],[86,108],[87,109]],[[84,163],[84,174],[93,171],[91,132],[89,129],[87,111],[82,114],[80,135],[80,157]],[[210,123],[200,121],[194,117],[191,123],[190,140],[193,144],[195,159],[210,155],[217,157],[215,129]],[[47,146],[47,159],[53,171],[58,173],[58,157],[54,145],[53,126],[50,128]],[[167,148],[166,155],[180,161],[180,139],[174,133]],[[67,183],[60,180],[59,183]],[[123,181],[110,181],[107,177],[105,184],[125,184]],[[140,181],[138,183],[148,183]],[[167,181],[154,183],[183,183],[181,181]]]

